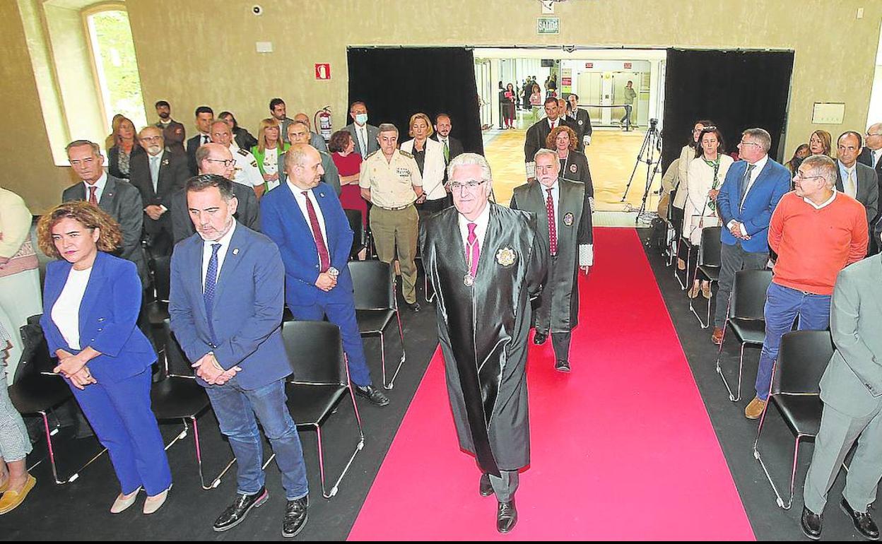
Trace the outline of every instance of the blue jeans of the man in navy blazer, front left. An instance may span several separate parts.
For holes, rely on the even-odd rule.
[[[221,425],[221,432],[229,438],[235,461],[239,464],[236,474],[238,492],[256,495],[264,487],[265,474],[261,467],[264,452],[258,431],[260,421],[276,454],[286,497],[290,501],[307,496],[310,489],[306,481],[303,448],[297,426],[285,404],[284,380],[259,389],[245,390],[233,376],[226,384],[208,385],[206,392]]]

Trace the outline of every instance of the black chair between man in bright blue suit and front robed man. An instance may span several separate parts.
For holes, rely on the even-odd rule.
[[[398,302],[395,299],[392,265],[383,261],[349,261],[349,272],[352,274],[352,283],[355,288],[355,319],[358,321],[358,331],[362,333],[362,336],[378,335],[380,337],[383,387],[392,389],[395,385],[395,378],[401,370],[401,365],[407,359],[404,347],[404,328],[401,326]],[[392,317],[398,319],[401,359],[392,379],[386,382],[384,332],[392,321]]]

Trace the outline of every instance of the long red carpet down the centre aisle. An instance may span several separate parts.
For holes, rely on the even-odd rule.
[[[553,369],[550,339],[530,354],[514,531],[496,532],[459,450],[438,350],[350,540],[754,540],[639,237],[594,235],[572,373]]]

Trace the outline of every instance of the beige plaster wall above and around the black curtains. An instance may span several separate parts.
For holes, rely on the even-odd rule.
[[[250,6],[265,8],[261,17]],[[4,12],[9,11],[4,5]],[[280,96],[288,114],[310,116],[330,104],[341,127],[347,108],[348,45],[560,45],[601,47],[779,48],[794,49],[790,101],[791,150],[816,128],[838,134],[863,130],[871,92],[882,2],[867,0],[712,0],[688,4],[665,0],[569,0],[556,4],[561,34],[537,36],[535,0],[130,0],[127,2],[141,71],[148,118],[153,101],[172,103],[173,116],[192,131],[192,111],[200,104],[229,109],[254,131],[268,114],[267,102]],[[856,19],[863,7],[863,19]],[[14,8],[13,8],[14,10]],[[804,15],[799,19],[799,15]],[[4,17],[4,49],[20,51],[20,21]],[[255,41],[273,41],[272,54],[255,52]],[[859,44],[856,47],[856,44]],[[26,60],[7,55],[12,69],[33,90]],[[333,80],[316,81],[313,63],[331,63]],[[25,69],[28,70],[25,70]],[[4,71],[11,67],[4,62]],[[28,73],[24,73],[28,71]],[[762,82],[757,82],[762,85]],[[0,83],[9,86],[5,81]],[[390,82],[393,85],[393,82]],[[17,86],[13,86],[17,87]],[[41,126],[33,97],[26,98],[25,125]],[[812,125],[814,101],[846,102],[845,123]],[[0,106],[10,109],[4,95]],[[370,105],[369,105],[370,106]],[[37,108],[39,106],[37,105]],[[374,120],[377,121],[377,120]],[[34,135],[31,138],[45,136]],[[0,136],[9,149],[11,133]],[[4,141],[5,140],[5,141]],[[16,145],[18,147],[18,145]],[[50,161],[48,146],[34,148]],[[24,165],[14,168],[26,175]],[[8,170],[7,170],[8,172]],[[29,201],[47,197],[26,195]]]

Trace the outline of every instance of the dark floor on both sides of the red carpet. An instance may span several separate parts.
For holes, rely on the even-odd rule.
[[[643,237],[648,235],[644,230],[640,234]],[[796,500],[793,507],[790,510],[781,510],[775,505],[772,489],[752,455],[757,423],[744,419],[744,406],[752,398],[759,350],[748,348],[746,351],[743,399],[739,403],[729,402],[728,394],[715,371],[716,347],[710,342],[710,330],[699,327],[688,309],[684,292],[673,279],[672,269],[664,266],[662,257],[654,250],[647,250],[647,257],[690,362],[692,374],[705,400],[707,412],[754,533],[759,540],[804,539],[799,529],[799,515],[803,506],[802,482],[811,458],[811,443],[800,448]],[[704,298],[697,299],[699,309],[706,308],[702,307],[704,302]],[[315,433],[301,433],[310,476],[310,520],[298,539],[346,539],[437,346],[434,311],[431,305],[427,307],[423,304],[423,308],[417,314],[407,309],[402,310],[407,339],[407,362],[401,369],[395,388],[387,391],[392,404],[377,408],[368,406],[363,399],[359,399],[366,443],[340,484],[340,492],[331,500],[325,500],[320,494]],[[378,341],[365,341],[375,382],[379,381]],[[400,351],[396,335],[391,333],[387,337],[387,346],[388,361],[397,361],[396,355]],[[735,342],[729,339],[723,351],[723,368],[732,377],[735,376],[737,367],[737,353]],[[325,468],[329,477],[339,473],[356,443],[355,420],[347,402],[344,401],[340,412],[325,426]],[[676,417],[676,399],[670,399],[669,406],[661,408],[669,410],[671,417]],[[228,444],[221,439],[211,414],[203,416],[200,422],[206,478],[210,479],[226,464],[230,451]],[[179,430],[180,426],[176,424],[163,426],[163,433],[168,440]],[[767,422],[763,437],[760,448],[763,457],[779,488],[786,493],[792,463],[792,436],[775,415]],[[455,444],[451,444],[451,447],[455,447]],[[84,462],[96,449],[97,443],[93,439],[73,440],[70,432],[63,429],[56,436],[56,455],[59,458],[60,471],[70,473],[77,462]],[[39,459],[41,451],[44,448],[40,444],[35,448],[32,458]],[[64,486],[52,483],[49,466],[44,462],[33,471],[39,483],[27,502],[18,510],[0,517],[0,540],[58,540],[59,536],[70,540],[281,540],[280,523],[285,502],[280,474],[274,464],[267,468],[266,485],[270,491],[270,501],[259,510],[254,510],[243,525],[228,533],[213,533],[213,519],[231,502],[235,494],[235,466],[218,488],[203,491],[196,472],[192,432],[169,449],[168,458],[175,487],[169,495],[168,503],[150,517],[140,513],[143,495],[131,510],[117,516],[108,513],[118,488],[106,456],[82,471],[77,481]],[[683,466],[687,467],[684,469],[684,478],[701,478],[701,474],[688,472],[688,459],[684,459]],[[837,506],[843,485],[844,478],[841,476],[830,494],[830,505],[824,520],[824,537],[826,540],[861,540]],[[671,490],[671,493],[676,493],[676,490]],[[635,515],[639,515],[639,510],[644,505],[628,507],[634,510]],[[695,516],[701,515],[702,512],[695,512]],[[427,538],[431,538],[431,535],[427,535]]]

